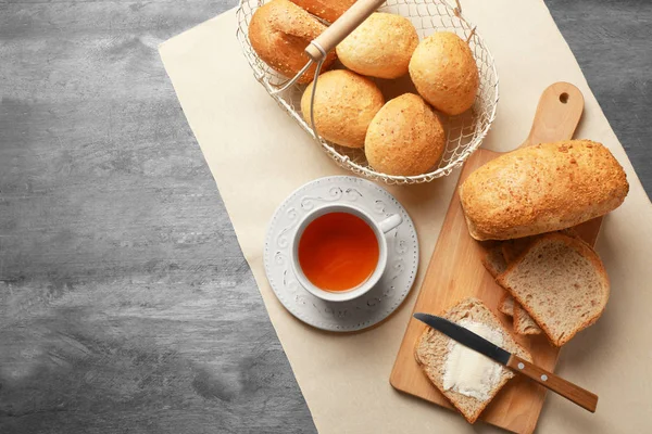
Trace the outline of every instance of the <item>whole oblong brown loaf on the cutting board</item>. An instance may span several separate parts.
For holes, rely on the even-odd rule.
[[[602,144],[568,140],[522,148],[481,166],[460,186],[476,240],[551,232],[618,207],[629,184]]]

